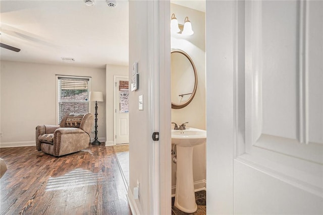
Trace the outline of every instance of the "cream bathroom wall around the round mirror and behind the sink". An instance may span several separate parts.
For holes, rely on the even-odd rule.
[[[197,90],[192,102],[182,109],[172,109],[172,122],[178,125],[189,122],[188,127],[205,129],[205,13],[171,4],[171,14],[175,14],[179,24],[184,24],[185,17],[192,23],[194,34],[182,36],[171,34],[171,48],[177,48],[190,55],[197,70]],[[174,127],[174,125],[172,125]],[[205,187],[206,180],[206,152],[205,144],[194,147],[193,151],[193,179],[195,189]],[[176,155],[174,155],[176,156]],[[173,156],[173,157],[174,157]],[[172,162],[172,194],[175,194],[176,167]]]

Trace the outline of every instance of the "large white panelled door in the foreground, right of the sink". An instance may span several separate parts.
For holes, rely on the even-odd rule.
[[[208,214],[323,214],[322,23],[322,1],[206,1]]]

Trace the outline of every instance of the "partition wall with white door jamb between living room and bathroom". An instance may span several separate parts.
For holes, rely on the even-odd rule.
[[[169,14],[169,1],[129,1],[129,78],[135,61],[139,72],[139,89],[129,94],[128,197],[133,214],[171,213]],[[140,95],[143,110],[138,110]],[[156,131],[159,140],[153,141]],[[140,196],[135,200],[137,181]]]

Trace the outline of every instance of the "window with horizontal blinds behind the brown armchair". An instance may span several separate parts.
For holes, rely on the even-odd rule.
[[[58,123],[66,113],[89,112],[89,82],[87,77],[57,76]]]

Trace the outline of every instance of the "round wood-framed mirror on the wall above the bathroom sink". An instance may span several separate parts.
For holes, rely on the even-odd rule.
[[[183,50],[171,51],[172,108],[186,107],[194,98],[197,71],[192,58]]]

